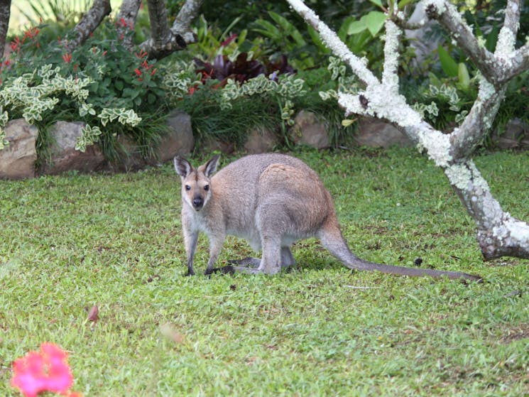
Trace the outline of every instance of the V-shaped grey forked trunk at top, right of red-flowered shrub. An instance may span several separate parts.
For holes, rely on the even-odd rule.
[[[151,38],[140,45],[148,53],[148,57],[163,58],[183,50],[189,43],[195,43],[196,38],[190,31],[190,23],[197,16],[201,5],[202,0],[187,0],[175,18],[175,23],[169,28],[165,1],[148,0]]]

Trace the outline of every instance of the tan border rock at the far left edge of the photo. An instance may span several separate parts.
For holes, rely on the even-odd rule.
[[[0,150],[0,178],[35,177],[37,127],[16,119],[9,121],[5,130],[9,145]]]

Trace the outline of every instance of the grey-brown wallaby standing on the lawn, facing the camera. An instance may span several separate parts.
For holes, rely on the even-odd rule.
[[[187,254],[187,274],[192,276],[199,232],[209,238],[206,274],[227,235],[248,240],[261,259],[229,261],[235,271],[274,274],[295,261],[290,246],[299,239],[317,237],[331,254],[354,270],[381,271],[404,276],[433,276],[481,281],[457,271],[405,268],[359,259],[342,236],[332,197],[322,181],[298,158],[279,153],[245,156],[222,168],[219,156],[193,168],[180,156],[175,170],[182,179],[182,229]]]

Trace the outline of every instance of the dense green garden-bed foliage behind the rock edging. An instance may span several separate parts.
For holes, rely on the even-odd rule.
[[[153,61],[146,61],[139,50],[129,51],[121,45],[115,26],[124,21],[104,23],[87,43],[67,53],[65,42],[58,41],[57,37],[67,38],[68,29],[80,16],[77,9],[82,1],[80,4],[48,1],[48,7],[30,1],[37,16],[45,21],[40,26],[38,38],[36,35],[33,37],[32,32],[35,31],[32,29],[18,38],[13,37],[11,46],[15,55],[0,64],[0,80],[4,81],[2,88],[9,87],[13,77],[25,72],[31,73],[48,64],[58,66],[62,77],[90,79],[87,102],[93,104],[94,114],[81,114],[75,101],[62,95],[53,112],[45,112],[42,121],[34,121],[40,127],[40,161],[45,158],[49,147],[47,126],[57,119],[86,121],[91,129],[85,132],[79,147],[84,148],[92,141],[98,141],[110,160],[124,155],[119,136],[126,136],[136,143],[143,156],[152,156],[153,146],[165,131],[165,114],[173,107],[192,114],[197,151],[212,138],[240,148],[249,130],[254,127],[276,132],[281,144],[289,147],[288,126],[292,124],[292,116],[300,109],[310,109],[327,119],[332,146],[349,143],[356,119],[347,122],[348,126],[352,123],[351,128],[342,128],[340,121],[344,115],[337,107],[336,95],[327,96],[327,101],[322,102],[320,92],[335,93],[351,89],[351,86],[329,78],[327,65],[332,64],[329,50],[317,33],[288,8],[286,2],[213,1],[202,9],[203,14],[194,21],[197,43],[155,65]],[[307,3],[337,31],[356,55],[366,58],[376,75],[381,74],[383,21],[386,18],[383,3]],[[400,2],[401,8],[407,3]],[[170,20],[175,17],[180,4],[179,1],[168,1]],[[503,15],[498,12],[503,3],[489,1],[473,4],[467,1],[459,7],[466,14],[467,21],[472,23],[479,40],[493,50],[503,23]],[[528,24],[524,23],[529,15],[528,5],[523,7],[518,44],[528,33]],[[147,21],[146,9],[141,9],[135,27],[136,43],[148,36]],[[439,26],[434,25],[425,38],[439,45],[422,62],[415,60],[412,41],[403,38],[400,42],[400,92],[437,129],[450,130],[462,122],[474,103],[478,74],[474,65]],[[288,87],[283,87],[282,82],[286,80],[278,80],[278,74],[293,71],[296,79],[305,82],[303,92],[307,95],[280,94],[288,92]],[[514,117],[529,122],[529,93],[525,87],[528,73],[520,75],[508,86],[506,100],[501,104],[493,126],[500,134],[506,122]],[[264,76],[278,82],[278,85],[261,97],[260,92],[251,87],[255,84],[251,80],[256,76]],[[226,87],[234,86],[230,81],[239,85],[240,92],[244,94],[229,97],[227,109],[229,93]],[[349,82],[351,80],[347,80]],[[40,85],[42,82],[35,78],[31,83]],[[99,110],[109,104],[116,109],[136,112],[141,122],[131,126],[119,123],[120,118],[116,117],[111,121],[111,128],[101,126]],[[10,119],[23,114],[17,112],[18,109],[9,108],[0,108],[0,114],[4,110],[9,111]],[[0,118],[0,138],[5,118]]]

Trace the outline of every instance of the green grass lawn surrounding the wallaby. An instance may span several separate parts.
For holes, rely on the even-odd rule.
[[[356,254],[485,283],[351,272],[315,240],[277,276],[187,278],[169,165],[0,181],[0,396],[19,395],[11,362],[45,341],[70,352],[84,396],[529,396],[528,261],[481,259],[441,171],[413,149],[296,156]],[[529,219],[528,153],[476,164]],[[229,239],[219,264],[248,254]],[[202,238],[195,270],[206,261]]]

